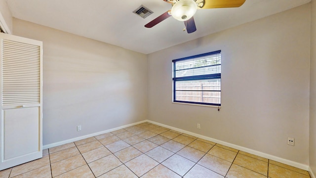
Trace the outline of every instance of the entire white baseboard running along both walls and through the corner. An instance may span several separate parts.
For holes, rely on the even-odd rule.
[[[189,131],[185,131],[185,130],[182,130],[182,129],[178,129],[178,128],[175,128],[175,127],[167,126],[167,125],[160,124],[160,123],[157,123],[157,122],[154,122],[154,121],[150,121],[150,120],[144,120],[144,121],[140,121],[140,122],[137,122],[137,123],[128,124],[128,125],[125,125],[125,126],[117,127],[117,128],[114,128],[114,129],[109,129],[109,130],[98,132],[98,133],[87,134],[87,135],[79,136],[79,137],[76,137],[76,138],[71,138],[71,139],[68,139],[68,140],[59,141],[59,142],[51,143],[51,144],[48,144],[48,145],[43,145],[43,149],[47,149],[47,148],[59,146],[59,145],[62,145],[62,144],[78,141],[80,139],[88,138],[88,137],[91,137],[91,136],[96,136],[96,135],[99,135],[99,134],[105,134],[105,133],[113,132],[113,131],[116,131],[116,130],[119,130],[119,129],[124,129],[124,128],[130,127],[130,126],[134,126],[134,125],[137,125],[137,124],[141,124],[141,123],[144,123],[144,122],[149,122],[149,123],[152,123],[152,124],[156,124],[158,126],[162,126],[162,127],[168,128],[168,129],[172,129],[174,131],[178,131],[178,132],[181,132],[181,133],[190,134],[190,135],[193,135],[193,136],[205,139],[205,140],[213,141],[215,143],[219,143],[219,144],[231,147],[231,148],[235,148],[235,149],[240,150],[240,151],[244,151],[244,152],[251,153],[251,154],[254,154],[254,155],[257,155],[257,156],[261,156],[263,158],[267,158],[267,159],[270,159],[270,160],[274,160],[274,161],[277,161],[277,162],[280,162],[280,163],[283,163],[283,164],[286,164],[286,165],[289,165],[289,166],[300,168],[300,169],[309,171],[310,174],[311,174],[311,177],[312,178],[316,178],[314,173],[312,172],[311,168],[308,165],[304,165],[304,164],[301,164],[301,163],[297,163],[297,162],[294,162],[294,161],[283,159],[283,158],[280,158],[280,157],[277,157],[277,156],[274,156],[274,155],[270,155],[270,154],[267,154],[267,153],[263,153],[263,152],[260,152],[260,151],[256,151],[256,150],[253,150],[253,149],[245,148],[245,147],[242,147],[242,146],[239,146],[239,145],[235,145],[235,144],[232,144],[232,143],[228,143],[228,142],[225,142],[225,141],[214,139],[214,138],[211,138],[211,137],[208,137],[208,136],[204,136],[204,135],[192,133],[192,132],[189,132]]]

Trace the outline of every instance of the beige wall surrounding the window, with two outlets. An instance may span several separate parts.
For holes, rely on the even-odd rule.
[[[306,4],[149,54],[149,119],[309,165],[310,20]],[[172,103],[171,60],[219,49],[220,112]]]

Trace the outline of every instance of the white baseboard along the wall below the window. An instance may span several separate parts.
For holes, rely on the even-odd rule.
[[[253,150],[253,149],[245,148],[245,147],[242,147],[242,146],[239,146],[239,145],[235,145],[235,144],[232,144],[232,143],[228,143],[228,142],[225,142],[225,141],[222,141],[222,140],[214,139],[214,138],[211,138],[211,137],[208,137],[208,136],[204,136],[204,135],[200,135],[200,134],[195,134],[195,133],[192,133],[192,132],[188,132],[188,131],[185,131],[185,130],[182,130],[182,129],[170,127],[170,126],[167,126],[167,125],[164,125],[164,124],[160,124],[160,123],[157,123],[157,122],[154,122],[154,121],[150,121],[150,120],[147,120],[146,122],[149,122],[149,123],[152,123],[152,124],[156,124],[158,126],[162,126],[162,127],[168,128],[168,129],[172,129],[172,130],[175,130],[175,131],[178,131],[178,132],[181,132],[181,133],[190,134],[190,135],[193,135],[193,136],[205,139],[205,140],[213,141],[213,142],[218,143],[218,144],[222,144],[222,145],[225,145],[225,146],[228,146],[228,147],[231,147],[231,148],[235,148],[235,149],[240,150],[240,151],[244,151],[244,152],[251,153],[251,154],[254,154],[254,155],[257,155],[257,156],[261,156],[263,158],[267,158],[267,159],[270,159],[270,160],[274,160],[274,161],[277,161],[277,162],[280,162],[280,163],[283,163],[283,164],[286,164],[286,165],[289,165],[289,166],[300,168],[300,169],[305,170],[305,171],[309,171],[309,169],[310,169],[308,165],[304,165],[304,164],[301,164],[301,163],[297,163],[297,162],[294,162],[294,161],[283,159],[283,158],[280,158],[280,157],[277,157],[277,156],[274,156],[274,155],[270,155],[270,154],[267,154],[267,153],[263,153],[263,152],[260,152],[260,151],[256,151],[256,150]]]

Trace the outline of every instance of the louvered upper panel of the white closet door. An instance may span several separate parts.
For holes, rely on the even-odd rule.
[[[2,105],[40,103],[40,46],[2,41]]]

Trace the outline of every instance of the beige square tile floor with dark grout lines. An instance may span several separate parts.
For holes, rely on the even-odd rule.
[[[310,178],[307,171],[150,123],[49,148],[0,178]]]

